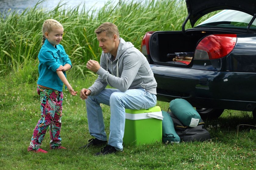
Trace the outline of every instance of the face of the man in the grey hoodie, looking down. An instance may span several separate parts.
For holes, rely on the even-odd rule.
[[[101,32],[97,34],[97,39],[99,42],[99,47],[103,50],[103,53],[111,53],[115,51],[115,38],[113,36],[108,36],[106,32]]]

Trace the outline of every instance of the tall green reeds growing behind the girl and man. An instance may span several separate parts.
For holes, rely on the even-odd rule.
[[[69,55],[72,77],[86,77],[91,72],[85,67],[89,59],[100,59],[101,49],[94,30],[103,22],[115,23],[120,36],[140,49],[147,31],[181,30],[187,16],[185,1],[146,0],[118,4],[107,2],[101,9],[86,9],[85,4],[66,8],[61,2],[54,9],[40,7],[23,12],[0,14],[0,74],[15,74],[18,82],[37,79],[37,55],[41,48],[41,27],[45,19],[53,18],[62,23],[64,36],[61,44]]]

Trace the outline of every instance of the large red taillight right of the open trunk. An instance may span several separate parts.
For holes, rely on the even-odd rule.
[[[194,59],[219,59],[228,55],[236,45],[236,34],[209,35],[197,45]]]

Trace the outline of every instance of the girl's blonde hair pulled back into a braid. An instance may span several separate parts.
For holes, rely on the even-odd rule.
[[[61,23],[59,23],[55,19],[47,19],[44,21],[43,28],[42,28],[42,32],[43,32],[42,45],[44,44],[44,41],[46,39],[44,33],[51,32],[53,28],[63,28],[63,26],[61,25]]]

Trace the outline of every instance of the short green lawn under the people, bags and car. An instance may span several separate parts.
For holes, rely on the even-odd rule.
[[[13,83],[14,75],[0,81],[0,169],[255,169],[256,131],[250,112],[225,110],[215,121],[205,121],[211,140],[165,145],[125,146],[123,152],[96,157],[99,148],[79,149],[91,138],[86,106],[79,96],[64,91],[62,145],[49,149],[49,134],[41,148],[48,154],[27,151],[40,118],[35,83]],[[69,76],[68,76],[69,77]],[[70,80],[75,90],[90,86],[93,77]],[[157,103],[167,111],[169,103]],[[110,110],[102,105],[109,134]],[[247,125],[241,125],[247,124]],[[238,129],[239,126],[239,129]]]

